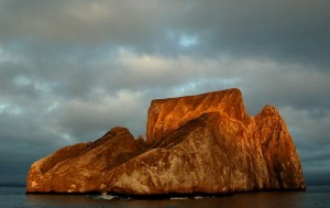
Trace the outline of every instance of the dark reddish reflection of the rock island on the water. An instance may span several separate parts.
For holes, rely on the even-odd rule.
[[[235,194],[198,199],[107,200],[87,195],[26,195],[28,207],[224,207],[224,208],[300,208],[314,207],[304,191],[267,191]],[[329,196],[329,191],[328,191]],[[110,197],[111,198],[111,197]],[[319,207],[315,205],[315,207]]]

